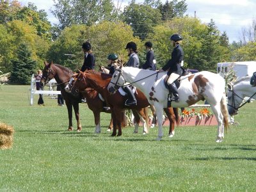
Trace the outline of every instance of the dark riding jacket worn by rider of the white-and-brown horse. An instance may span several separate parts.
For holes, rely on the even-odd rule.
[[[177,44],[172,51],[172,58],[164,65],[163,70],[168,70],[167,75],[170,76],[173,72],[182,75],[183,69],[181,63],[184,58],[184,52],[180,44]]]

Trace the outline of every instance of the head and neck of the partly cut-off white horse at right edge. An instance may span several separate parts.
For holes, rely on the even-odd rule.
[[[228,113],[237,115],[239,108],[251,99],[256,99],[256,87],[250,84],[251,77],[246,76],[228,84]],[[245,97],[249,97],[245,100]]]

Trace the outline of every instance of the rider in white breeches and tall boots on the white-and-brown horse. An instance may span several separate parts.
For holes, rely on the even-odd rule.
[[[172,51],[172,58],[171,60],[168,61],[168,63],[166,63],[166,65],[164,65],[163,68],[159,70],[159,72],[164,72],[168,70],[167,84],[168,84],[170,93],[173,94],[173,98],[171,98],[172,94],[168,95],[168,101],[179,102],[178,89],[174,82],[183,73],[182,65],[183,65],[184,52],[180,46],[182,42],[182,37],[179,34],[174,34],[170,37],[170,40],[172,40],[173,47],[174,47]]]

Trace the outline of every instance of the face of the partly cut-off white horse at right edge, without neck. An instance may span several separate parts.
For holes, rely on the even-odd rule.
[[[237,115],[239,106],[243,102],[241,98],[234,90],[233,84],[228,84],[228,113],[229,115]]]

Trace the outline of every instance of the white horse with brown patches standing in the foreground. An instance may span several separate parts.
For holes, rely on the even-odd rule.
[[[156,73],[134,67],[116,69],[108,85],[109,92],[115,92],[118,86],[131,83],[145,94],[150,104],[156,108],[159,125],[157,140],[163,137],[163,108],[167,108],[168,89],[164,85],[166,72]],[[172,102],[173,108],[186,108],[199,100],[207,100],[218,121],[216,142],[224,138],[224,128],[228,126],[227,100],[225,97],[225,80],[219,74],[198,72],[181,78],[178,89],[180,102]]]

